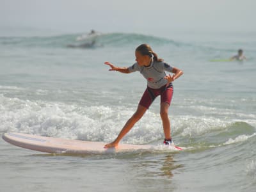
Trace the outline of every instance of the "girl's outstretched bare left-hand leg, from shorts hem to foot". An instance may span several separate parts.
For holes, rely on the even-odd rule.
[[[120,140],[122,140],[122,138],[125,136],[125,134],[127,134],[127,132],[129,132],[132,127],[134,126],[134,124],[136,124],[136,122],[138,122],[138,120],[140,120],[140,118],[144,115],[144,113],[147,111],[147,108],[141,106],[140,104],[138,105],[138,108],[136,110],[136,112],[134,113],[134,115],[131,116],[131,118],[129,118],[129,120],[126,122],[126,124],[124,125],[122,131],[118,134],[117,138],[115,139],[115,141],[113,141],[112,143],[108,143],[107,145],[105,145],[105,148],[109,148],[109,147],[116,147],[119,143]]]

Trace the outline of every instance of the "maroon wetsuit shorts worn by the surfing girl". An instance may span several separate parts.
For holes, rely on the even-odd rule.
[[[158,89],[147,87],[147,89],[145,90],[141,97],[139,104],[148,109],[158,95],[161,95],[161,103],[166,102],[170,105],[172,102],[173,95],[172,83],[170,83],[168,86],[164,85]]]

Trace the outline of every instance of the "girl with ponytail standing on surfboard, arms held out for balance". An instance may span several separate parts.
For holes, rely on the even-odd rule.
[[[135,51],[136,63],[131,67],[115,67],[112,63],[105,62],[104,64],[111,67],[109,70],[114,70],[129,74],[139,71],[145,79],[147,79],[147,88],[143,93],[138,108],[134,115],[124,125],[122,131],[118,134],[115,141],[106,144],[104,147],[116,147],[120,140],[131,130],[131,128],[140,120],[150,107],[154,99],[161,95],[160,115],[163,122],[164,143],[166,145],[174,145],[171,137],[171,125],[168,117],[168,108],[172,101],[173,84],[175,79],[179,78],[183,72],[179,68],[171,67],[167,63],[157,57],[157,54],[152,51],[150,45],[141,44]],[[166,76],[165,72],[172,72]]]

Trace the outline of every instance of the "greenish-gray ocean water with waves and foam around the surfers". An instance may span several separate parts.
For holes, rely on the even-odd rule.
[[[40,33],[40,31],[39,31]],[[38,34],[38,33],[36,33]],[[172,137],[182,152],[134,151],[68,156],[0,139],[1,191],[255,191],[255,33],[100,33],[0,36],[0,134],[24,132],[112,141],[146,88],[140,73],[109,72],[134,63],[147,43],[184,71],[174,84]],[[244,49],[246,61],[227,59]],[[156,99],[122,143],[163,142]]]

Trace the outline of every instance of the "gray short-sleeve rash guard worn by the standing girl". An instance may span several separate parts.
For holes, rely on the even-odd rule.
[[[148,87],[157,89],[164,86],[167,80],[164,79],[166,71],[172,72],[173,67],[165,63],[164,61],[152,61],[148,67],[140,67],[138,63],[134,63],[129,67],[129,72],[140,71],[140,73],[147,79]]]

